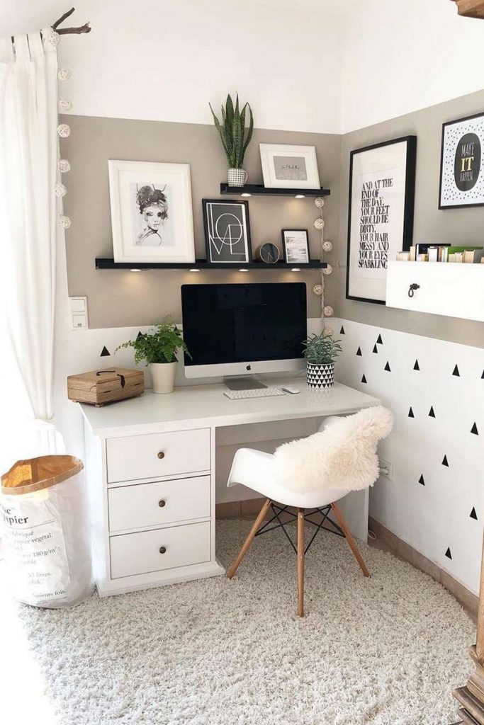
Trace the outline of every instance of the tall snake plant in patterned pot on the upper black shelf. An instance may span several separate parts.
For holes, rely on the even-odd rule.
[[[239,111],[239,94],[234,103],[230,94],[227,96],[225,108],[222,106],[222,120],[219,121],[213,111],[211,104],[210,111],[222,140],[223,150],[229,162],[227,181],[229,186],[244,186],[247,181],[247,171],[244,170],[244,156],[250,139],[253,135],[254,121],[252,109],[248,103]],[[248,110],[248,126],[245,128],[246,114]]]

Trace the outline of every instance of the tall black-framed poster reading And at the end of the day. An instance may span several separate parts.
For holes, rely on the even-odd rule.
[[[411,247],[417,136],[350,154],[346,297],[385,305],[388,260]]]

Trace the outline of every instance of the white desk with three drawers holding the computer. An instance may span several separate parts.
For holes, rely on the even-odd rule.
[[[217,428],[345,415],[380,404],[340,384],[313,392],[300,377],[270,382],[301,392],[230,400],[223,385],[184,386],[169,395],[146,392],[102,408],[81,406],[101,596],[223,573],[215,545]],[[367,492],[358,493],[355,506],[361,530]]]

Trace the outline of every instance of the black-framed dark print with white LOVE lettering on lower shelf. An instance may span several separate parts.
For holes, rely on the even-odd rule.
[[[207,262],[252,262],[248,202],[202,199]]]

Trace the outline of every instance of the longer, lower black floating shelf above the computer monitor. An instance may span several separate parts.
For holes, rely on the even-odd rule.
[[[110,259],[96,259],[97,270],[322,270],[327,267],[326,262],[310,260],[309,262],[275,262],[273,265],[266,265],[264,262],[207,262],[197,260],[196,262],[115,262]]]

